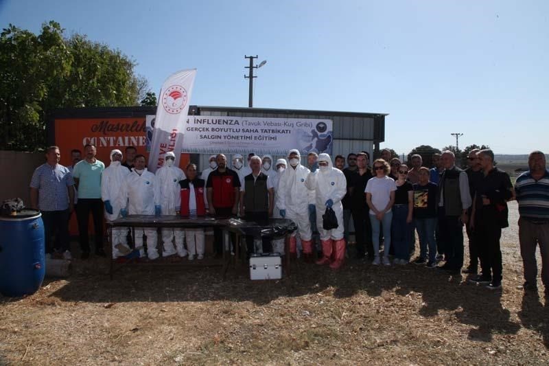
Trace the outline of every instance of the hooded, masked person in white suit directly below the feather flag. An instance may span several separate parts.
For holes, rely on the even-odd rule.
[[[156,170],[156,181],[160,186],[160,205],[162,207],[162,215],[178,215],[181,205],[181,195],[179,182],[185,179],[183,170],[174,165],[176,155],[172,151],[168,151],[164,155],[164,165],[159,170]],[[163,257],[169,257],[177,253],[180,257],[187,255],[187,250],[183,245],[185,240],[185,231],[181,227],[165,228],[161,230],[163,243]],[[174,248],[173,240],[175,236],[176,247]]]

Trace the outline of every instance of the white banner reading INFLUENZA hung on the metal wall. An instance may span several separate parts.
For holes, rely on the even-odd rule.
[[[187,117],[182,152],[285,155],[298,149],[331,155],[333,140],[331,119],[196,115]]]

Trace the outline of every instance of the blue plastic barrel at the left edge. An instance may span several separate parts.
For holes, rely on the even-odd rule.
[[[36,293],[44,280],[44,223],[36,209],[0,216],[0,293]]]

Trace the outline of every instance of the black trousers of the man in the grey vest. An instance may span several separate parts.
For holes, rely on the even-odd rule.
[[[460,216],[446,216],[444,207],[439,207],[439,233],[441,246],[449,269],[463,267],[463,223]]]

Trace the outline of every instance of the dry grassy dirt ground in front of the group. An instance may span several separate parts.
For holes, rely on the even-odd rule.
[[[75,260],[68,279],[0,296],[0,365],[547,365],[548,299],[541,281],[538,295],[518,288],[510,209],[500,292],[414,264],[295,264],[269,282],[128,266],[111,281],[105,260]]]

